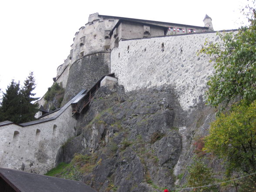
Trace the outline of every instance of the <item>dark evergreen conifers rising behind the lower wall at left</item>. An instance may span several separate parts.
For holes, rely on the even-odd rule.
[[[38,105],[31,102],[38,98],[33,98],[34,88],[33,72],[24,81],[24,86],[21,89],[20,82],[16,83],[12,80],[6,93],[3,93],[0,103],[0,121],[8,120],[19,124],[35,120],[34,115],[38,111]]]

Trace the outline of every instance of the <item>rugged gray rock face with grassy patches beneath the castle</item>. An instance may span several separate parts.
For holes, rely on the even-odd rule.
[[[193,135],[205,134],[200,129],[207,129],[205,119],[196,109],[183,111],[170,87],[127,93],[121,86],[101,87],[78,117],[77,136],[64,146],[62,160],[70,161],[74,153],[96,156],[82,180],[99,192],[172,188],[193,154]],[[184,127],[190,130],[182,132]]]

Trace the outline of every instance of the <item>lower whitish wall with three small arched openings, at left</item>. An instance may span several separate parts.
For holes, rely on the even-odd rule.
[[[20,127],[6,125],[0,127],[0,167],[21,169],[44,174],[55,167],[58,149],[74,135],[76,120],[71,117],[69,106],[57,119],[44,123]],[[53,131],[57,125],[56,132]],[[36,136],[37,129],[40,135]],[[19,131],[13,140],[14,131]]]

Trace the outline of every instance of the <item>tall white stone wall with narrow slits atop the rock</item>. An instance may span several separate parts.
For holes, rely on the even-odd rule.
[[[216,33],[121,40],[111,51],[111,73],[126,91],[169,84],[189,111],[204,95],[213,72],[209,57],[197,56],[206,38],[219,41]]]

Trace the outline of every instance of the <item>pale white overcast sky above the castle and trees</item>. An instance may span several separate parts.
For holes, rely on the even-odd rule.
[[[23,84],[34,72],[37,97],[53,84],[57,67],[67,58],[73,37],[89,14],[130,17],[237,29],[246,21],[240,9],[247,0],[2,0],[0,2],[0,89],[10,81]]]

